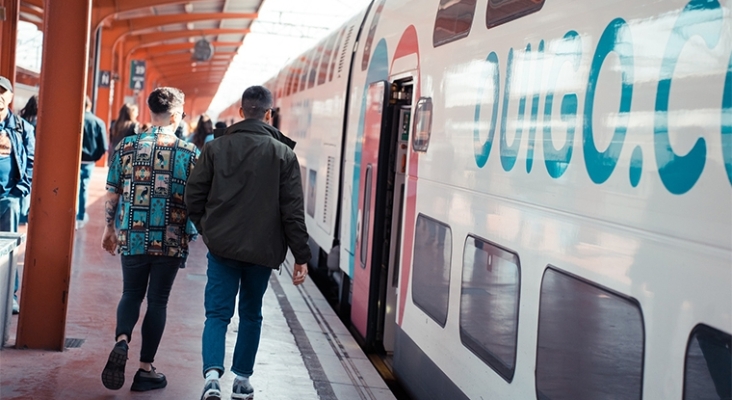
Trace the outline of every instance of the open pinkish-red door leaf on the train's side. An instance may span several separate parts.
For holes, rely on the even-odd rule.
[[[377,210],[383,207],[383,195],[379,192],[380,175],[384,175],[382,168],[381,147],[388,145],[388,140],[382,141],[382,132],[386,125],[387,106],[390,86],[386,81],[378,81],[369,85],[366,97],[366,115],[364,118],[363,144],[361,147],[361,162],[359,171],[359,199],[358,219],[356,223],[356,263],[353,271],[353,294],[351,298],[351,322],[364,339],[369,348],[376,338],[375,319],[377,315],[376,298],[378,295],[377,279],[379,276],[380,257],[374,262],[375,254],[381,254],[382,224],[375,226]],[[387,151],[385,152],[388,154]],[[358,154],[356,155],[358,158]],[[380,232],[381,231],[381,232]],[[374,267],[374,264],[376,266]],[[372,281],[374,284],[372,284]]]

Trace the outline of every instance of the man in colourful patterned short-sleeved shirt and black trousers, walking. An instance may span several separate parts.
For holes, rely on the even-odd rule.
[[[117,307],[117,343],[102,371],[102,383],[108,389],[124,385],[128,343],[146,292],[140,368],[131,390],[167,385],[165,375],[155,371],[152,363],[165,329],[170,290],[178,269],[185,265],[188,242],[195,232],[187,229],[192,224],[188,225],[184,193],[199,151],[175,136],[185,118],[183,103],[183,92],[176,88],[161,87],[150,93],[152,127],[124,138],[109,166],[102,247],[112,255],[121,254],[123,289]]]

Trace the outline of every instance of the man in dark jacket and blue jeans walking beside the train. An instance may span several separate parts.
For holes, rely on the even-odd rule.
[[[295,142],[269,123],[272,94],[244,91],[244,121],[204,146],[186,186],[188,215],[209,249],[203,329],[202,399],[221,398],[226,329],[239,293],[239,331],[231,371],[232,399],[254,396],[249,383],[262,328],[262,298],[272,269],[289,247],[292,283],[305,281],[310,260]]]

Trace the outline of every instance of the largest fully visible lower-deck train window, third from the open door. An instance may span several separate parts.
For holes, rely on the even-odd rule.
[[[638,302],[549,266],[539,300],[538,399],[641,399]]]

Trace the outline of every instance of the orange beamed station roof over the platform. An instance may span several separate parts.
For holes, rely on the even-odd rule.
[[[115,54],[115,76],[125,76],[130,60],[144,59],[156,85],[181,88],[195,100],[195,112],[203,112],[263,2],[93,0],[92,29],[102,28],[102,44]],[[21,20],[42,28],[43,0],[21,0],[20,11]],[[205,61],[193,59],[202,39],[213,49]]]

